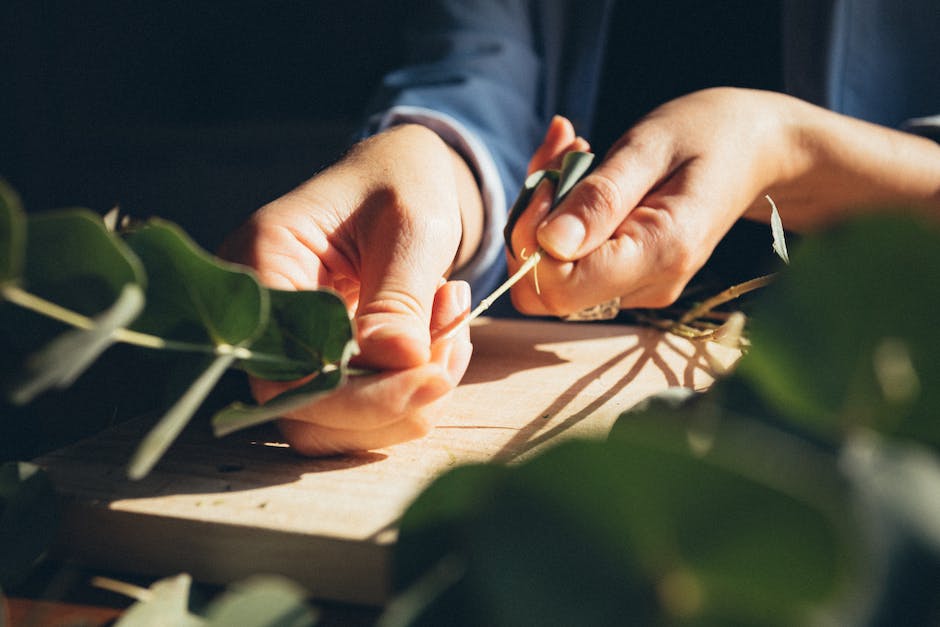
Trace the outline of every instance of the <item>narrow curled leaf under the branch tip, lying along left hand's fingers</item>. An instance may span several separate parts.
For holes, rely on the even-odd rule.
[[[339,387],[345,380],[343,369],[320,372],[307,383],[291,388],[263,405],[245,405],[235,402],[212,417],[212,430],[223,437],[240,429],[254,427],[309,405],[319,397]]]

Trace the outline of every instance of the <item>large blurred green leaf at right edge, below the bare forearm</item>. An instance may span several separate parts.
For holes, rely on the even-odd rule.
[[[738,371],[780,414],[940,446],[940,232],[871,217],[807,238],[752,317]]]

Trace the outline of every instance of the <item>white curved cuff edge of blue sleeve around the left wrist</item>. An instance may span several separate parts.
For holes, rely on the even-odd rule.
[[[503,254],[503,227],[506,224],[506,196],[496,163],[486,146],[463,124],[451,116],[408,105],[397,105],[369,119],[369,129],[379,132],[399,124],[420,124],[437,133],[464,158],[476,175],[483,199],[483,238],[470,261],[451,277],[470,283],[475,289],[487,270],[499,263]]]

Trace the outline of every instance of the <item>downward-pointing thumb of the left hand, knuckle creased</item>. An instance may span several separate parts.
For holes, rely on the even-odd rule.
[[[438,198],[429,202],[439,202]],[[367,209],[361,247],[360,362],[382,369],[411,368],[430,358],[434,295],[460,241],[456,225],[416,216],[381,199]],[[455,206],[445,213],[459,215]]]

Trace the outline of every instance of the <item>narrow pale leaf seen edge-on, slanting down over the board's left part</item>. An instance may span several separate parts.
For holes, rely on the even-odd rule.
[[[150,472],[234,360],[233,353],[217,355],[183,396],[160,418],[137,446],[127,467],[129,478],[141,479]]]

